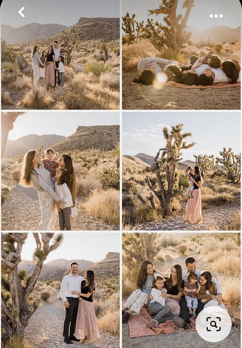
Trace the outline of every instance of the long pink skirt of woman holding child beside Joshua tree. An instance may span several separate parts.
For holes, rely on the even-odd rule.
[[[195,222],[196,220],[202,220],[201,190],[193,190],[192,197],[187,201],[185,220]]]

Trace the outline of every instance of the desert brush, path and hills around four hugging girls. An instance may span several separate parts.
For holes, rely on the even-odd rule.
[[[2,129],[6,130],[4,122],[8,120],[8,114],[2,117]],[[13,119],[10,123],[12,127]],[[30,134],[8,140],[5,150],[2,144],[2,230],[37,229],[40,219],[37,191],[19,186],[19,171],[28,150],[34,148],[43,154],[50,146],[59,155],[67,153],[74,160],[78,216],[73,229],[116,230],[119,226],[118,125],[79,126],[67,137]],[[57,217],[55,229],[59,230]]]

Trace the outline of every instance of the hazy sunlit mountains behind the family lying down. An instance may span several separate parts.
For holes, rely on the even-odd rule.
[[[203,39],[211,39],[220,43],[232,42],[240,40],[240,27],[231,29],[229,27],[213,26],[209,27],[204,31],[200,31],[194,27],[187,26],[186,31],[191,33],[190,40],[193,42],[198,42]]]

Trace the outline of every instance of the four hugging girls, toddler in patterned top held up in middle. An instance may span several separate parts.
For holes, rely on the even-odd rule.
[[[21,168],[20,185],[33,186],[38,193],[41,219],[38,231],[53,231],[56,206],[60,230],[71,230],[71,222],[77,216],[76,174],[71,156],[57,154],[52,148],[43,156],[30,150],[25,154]]]

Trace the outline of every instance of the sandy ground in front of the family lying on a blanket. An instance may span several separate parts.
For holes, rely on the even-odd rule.
[[[125,110],[239,110],[240,87],[185,89],[130,85],[137,71],[123,71]]]

